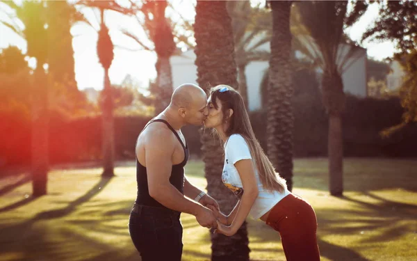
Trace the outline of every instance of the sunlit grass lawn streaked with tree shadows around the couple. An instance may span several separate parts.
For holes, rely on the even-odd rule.
[[[322,260],[417,260],[417,161],[345,159],[345,196],[329,196],[327,159],[295,160],[293,192],[318,216]],[[116,177],[101,168],[55,168],[47,196],[31,198],[24,174],[0,180],[0,260],[140,260],[127,229],[136,196],[135,167]],[[191,182],[205,187],[203,165]],[[183,260],[210,260],[210,235],[183,214]],[[249,221],[251,260],[285,260],[277,232]]]

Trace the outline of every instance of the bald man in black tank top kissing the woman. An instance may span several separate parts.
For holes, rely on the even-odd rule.
[[[148,260],[181,260],[181,212],[192,214],[206,228],[217,225],[208,207],[218,203],[188,182],[184,166],[188,147],[181,133],[185,125],[203,125],[207,96],[194,84],[183,84],[172,94],[167,108],[148,122],[136,143],[138,196],[133,205],[129,232]]]

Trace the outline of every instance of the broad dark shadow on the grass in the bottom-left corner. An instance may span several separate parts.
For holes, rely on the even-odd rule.
[[[81,235],[71,228],[43,224],[33,226],[34,221],[21,223],[9,230],[7,237],[1,229],[0,258],[1,255],[10,256],[9,261],[133,261],[140,260],[133,244],[124,249],[106,244],[99,239],[92,239],[88,235]],[[15,258],[11,258],[11,256]]]

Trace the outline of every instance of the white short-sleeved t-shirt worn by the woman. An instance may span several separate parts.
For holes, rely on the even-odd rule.
[[[222,181],[226,187],[234,192],[238,198],[241,198],[243,195],[243,185],[240,180],[240,175],[238,170],[234,166],[236,162],[242,159],[252,159],[250,155],[250,149],[247,145],[245,139],[240,134],[233,134],[229,137],[226,144],[224,145],[224,167],[222,173]],[[254,219],[259,219],[263,214],[268,212],[272,207],[274,207],[279,200],[287,196],[290,191],[285,188],[283,193],[279,191],[268,192],[263,189],[261,180],[259,179],[259,173],[256,170],[254,160],[256,182],[258,183],[258,198],[256,198],[252,209],[250,209],[250,215]]]

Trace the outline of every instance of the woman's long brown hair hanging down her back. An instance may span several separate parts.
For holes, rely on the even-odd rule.
[[[250,154],[255,162],[255,168],[259,173],[259,179],[263,188],[267,191],[284,192],[286,180],[279,176],[272,166],[271,161],[265,155],[259,141],[255,138],[250,119],[245,109],[243,98],[234,88],[220,84],[210,90],[211,102],[218,109],[217,99],[222,103],[223,123],[228,122],[229,127],[224,129],[227,137],[232,134],[240,134],[249,145]],[[229,109],[233,110],[232,115]]]

